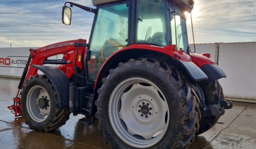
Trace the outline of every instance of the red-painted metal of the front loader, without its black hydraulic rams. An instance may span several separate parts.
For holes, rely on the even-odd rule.
[[[70,41],[50,44],[45,47],[38,48],[36,50],[30,49],[30,54],[33,57],[31,59],[26,80],[29,80],[30,76],[35,76],[38,72],[38,69],[31,67],[32,65],[44,65],[43,61],[45,61],[47,58],[51,56],[59,55],[59,54],[63,54],[66,61],[72,61],[71,64],[60,65],[58,67],[70,79],[72,75],[75,74],[75,71],[73,68],[75,67],[74,59],[75,59],[75,53],[77,51],[77,48],[74,47],[73,43],[86,43],[86,40],[83,40],[83,39],[70,40]],[[47,48],[49,49],[47,50]],[[80,69],[83,69],[82,63],[84,62],[85,52],[86,52],[86,48],[84,47],[79,48],[76,64]],[[81,57],[81,59],[79,59],[79,56]],[[20,100],[21,98],[19,98],[19,94],[18,94],[17,97],[13,98],[13,101],[16,104],[7,107],[8,109],[14,111],[15,117],[22,115]]]

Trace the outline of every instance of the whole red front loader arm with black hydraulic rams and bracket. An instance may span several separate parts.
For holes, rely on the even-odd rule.
[[[54,43],[42,48],[38,49],[30,49],[30,55],[26,67],[23,70],[21,80],[18,86],[18,92],[16,97],[13,98],[13,105],[8,106],[7,108],[12,110],[11,112],[15,114],[15,117],[21,116],[21,104],[20,104],[20,90],[22,90],[22,86],[25,83],[25,80],[29,80],[30,76],[35,76],[38,74],[38,67],[31,67],[33,65],[41,66],[45,64],[60,64],[58,67],[60,70],[66,74],[68,79],[71,78],[73,74],[75,74],[74,67],[74,59],[75,53],[78,50],[78,59],[76,61],[76,66],[79,69],[82,69],[82,63],[84,62],[84,56],[86,49],[85,47],[75,47],[74,43],[86,43],[86,40],[78,39],[65,41],[61,43]],[[63,59],[49,60],[49,57],[56,56],[59,54],[63,54]],[[31,62],[30,62],[31,61]]]

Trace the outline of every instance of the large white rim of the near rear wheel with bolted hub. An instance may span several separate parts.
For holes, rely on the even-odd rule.
[[[115,87],[108,114],[118,137],[138,148],[153,146],[164,137],[170,115],[162,91],[149,80],[138,77],[126,79]]]

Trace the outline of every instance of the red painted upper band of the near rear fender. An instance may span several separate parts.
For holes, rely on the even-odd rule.
[[[145,50],[161,52],[161,53],[167,54],[175,59],[190,62],[191,61],[190,56],[182,51],[175,51],[176,47],[177,47],[176,45],[167,45],[165,47],[161,47],[161,46],[156,46],[156,45],[151,45],[151,44],[131,44],[129,47],[126,47],[124,49],[116,51],[115,53],[113,53],[112,55],[110,55],[107,58],[107,60],[103,63],[102,67],[100,68],[98,76],[96,78],[96,82],[94,84],[94,89],[96,89],[98,77],[99,77],[99,74],[100,74],[102,68],[107,63],[107,61],[109,59],[111,59],[115,54],[120,53],[122,51],[131,50],[131,49],[145,49]],[[177,56],[175,57],[175,55],[177,55]],[[179,59],[179,56],[180,56],[180,59]]]

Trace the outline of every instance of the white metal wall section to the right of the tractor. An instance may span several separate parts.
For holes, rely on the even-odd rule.
[[[196,44],[196,53],[210,53],[226,73],[219,80],[226,99],[256,103],[256,42]]]

